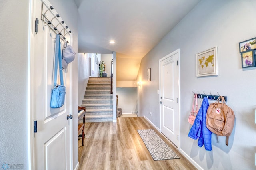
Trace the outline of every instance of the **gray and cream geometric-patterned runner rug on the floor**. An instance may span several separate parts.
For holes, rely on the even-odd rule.
[[[153,129],[137,130],[154,160],[179,159]]]

